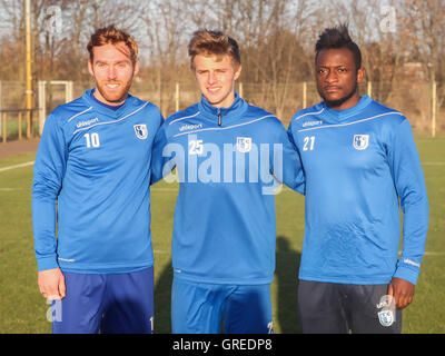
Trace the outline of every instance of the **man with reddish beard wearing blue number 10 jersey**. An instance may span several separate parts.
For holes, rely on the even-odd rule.
[[[128,33],[99,29],[88,51],[96,88],[49,115],[37,152],[38,285],[60,314],[56,334],[151,333],[150,161],[164,118],[128,92],[139,68]]]

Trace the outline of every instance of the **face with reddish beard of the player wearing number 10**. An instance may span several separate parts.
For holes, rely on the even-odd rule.
[[[130,51],[123,42],[93,47],[88,70],[95,78],[95,97],[107,105],[125,102],[132,77],[138,73],[138,62],[131,61]]]

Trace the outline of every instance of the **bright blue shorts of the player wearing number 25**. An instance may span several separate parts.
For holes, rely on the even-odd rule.
[[[270,285],[216,285],[174,277],[174,334],[271,334]]]

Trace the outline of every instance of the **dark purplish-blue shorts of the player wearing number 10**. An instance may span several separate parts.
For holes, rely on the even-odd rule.
[[[127,274],[63,271],[67,296],[52,303],[53,334],[151,334],[154,268]]]

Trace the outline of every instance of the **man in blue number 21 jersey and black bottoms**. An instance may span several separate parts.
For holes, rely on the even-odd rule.
[[[306,178],[298,305],[304,333],[400,333],[428,228],[428,201],[408,120],[368,96],[345,26],[316,43],[324,102],[289,126]],[[399,209],[403,219],[403,249]]]

